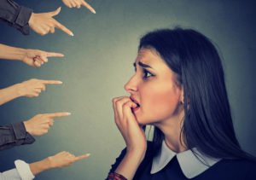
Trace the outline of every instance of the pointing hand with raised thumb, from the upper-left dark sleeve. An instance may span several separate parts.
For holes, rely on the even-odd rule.
[[[73,36],[73,32],[67,29],[66,26],[61,25],[60,22],[55,20],[53,17],[58,15],[61,12],[61,7],[55,11],[48,13],[32,13],[28,24],[34,32],[44,36],[45,34],[54,33],[55,27],[60,29],[63,32],[66,32],[68,35]]]

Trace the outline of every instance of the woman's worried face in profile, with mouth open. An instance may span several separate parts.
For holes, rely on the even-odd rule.
[[[154,49],[140,49],[134,63],[135,73],[125,84],[132,109],[140,125],[157,125],[167,119],[177,119],[182,111],[183,90],[176,75]]]

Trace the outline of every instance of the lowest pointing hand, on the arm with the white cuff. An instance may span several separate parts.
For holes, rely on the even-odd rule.
[[[75,156],[73,154],[68,153],[67,151],[62,151],[61,153],[55,154],[53,156],[49,156],[47,160],[49,160],[49,165],[51,168],[56,168],[56,167],[65,167],[68,165],[72,165],[74,162],[79,160],[84,160],[89,156],[90,154]]]

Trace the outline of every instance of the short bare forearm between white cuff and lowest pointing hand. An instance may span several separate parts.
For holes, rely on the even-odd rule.
[[[52,169],[52,165],[50,163],[49,158],[46,158],[44,160],[40,160],[34,163],[29,164],[30,170],[32,171],[32,174],[36,176],[37,174],[47,171],[49,169]]]

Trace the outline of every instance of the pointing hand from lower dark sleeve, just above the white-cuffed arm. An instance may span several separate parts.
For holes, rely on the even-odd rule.
[[[26,131],[32,136],[42,136],[49,131],[49,127],[54,124],[54,119],[68,116],[70,113],[43,113],[32,117],[32,119],[24,121]]]

